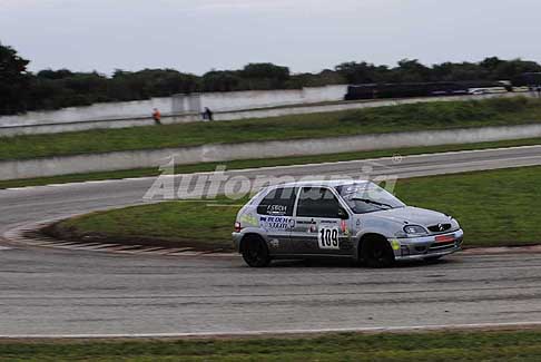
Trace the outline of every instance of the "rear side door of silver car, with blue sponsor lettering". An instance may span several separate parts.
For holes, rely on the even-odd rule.
[[[295,187],[277,187],[257,205],[259,226],[267,233],[268,251],[273,255],[291,254],[291,233],[295,224],[293,209],[297,197]]]

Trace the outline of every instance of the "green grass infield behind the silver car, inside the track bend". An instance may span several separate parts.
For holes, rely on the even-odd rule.
[[[409,205],[453,215],[465,231],[465,246],[541,243],[541,167],[401,179],[396,195]],[[76,238],[157,238],[196,247],[230,248],[230,232],[240,202],[168,202],[94,213],[60,223]],[[233,206],[228,206],[233,205]]]

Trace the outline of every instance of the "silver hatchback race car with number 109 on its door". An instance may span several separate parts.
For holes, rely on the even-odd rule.
[[[322,256],[384,267],[460,251],[463,231],[453,217],[406,206],[371,182],[333,180],[263,189],[238,212],[233,239],[255,267]]]

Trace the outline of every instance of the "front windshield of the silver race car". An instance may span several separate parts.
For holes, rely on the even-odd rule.
[[[355,214],[405,207],[405,204],[391,193],[371,183],[343,185],[336,187],[336,190]]]

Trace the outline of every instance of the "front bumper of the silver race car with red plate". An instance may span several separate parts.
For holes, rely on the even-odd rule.
[[[388,242],[396,261],[414,261],[456,253],[461,250],[464,232],[459,229],[440,235],[391,238]]]

